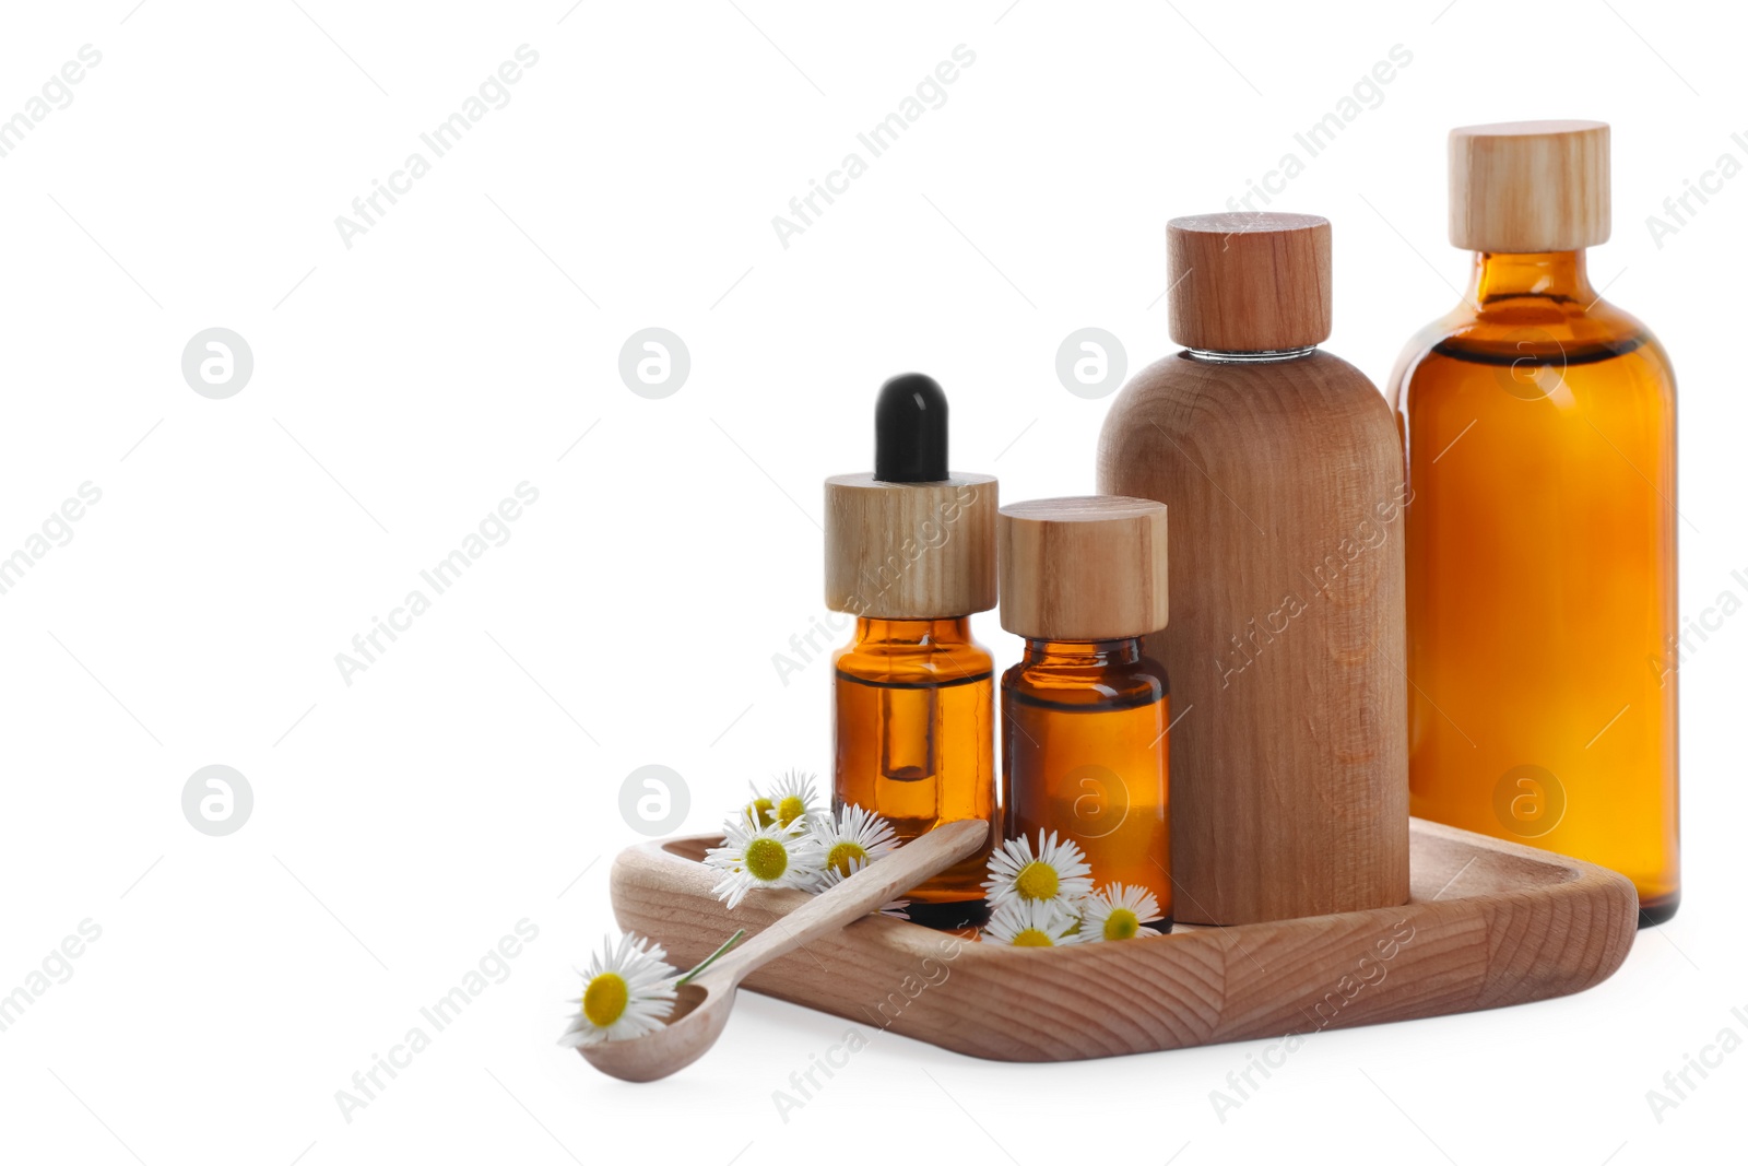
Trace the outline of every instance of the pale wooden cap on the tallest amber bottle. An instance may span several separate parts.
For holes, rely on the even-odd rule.
[[[1575,252],[1608,241],[1608,122],[1512,121],[1451,131],[1451,243]]]

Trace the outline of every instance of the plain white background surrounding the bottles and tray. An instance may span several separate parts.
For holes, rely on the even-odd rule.
[[[771,657],[825,614],[820,481],[871,467],[881,379],[937,376],[953,465],[1003,498],[1089,491],[1108,399],[1063,388],[1058,344],[1169,351],[1164,220],[1241,194],[1391,45],[1412,63],[1274,203],[1334,220],[1328,348],[1381,381],[1454,301],[1446,129],[1612,122],[1592,278],[1682,381],[1682,607],[1748,594],[1748,177],[1661,248],[1645,227],[1748,161],[1739,12],[299,3],[7,5],[0,117],[103,56],[0,159],[0,554],[82,482],[101,502],[0,596],[0,993],[101,937],[0,1031],[0,1157],[1739,1156],[1748,1052],[1661,1124],[1645,1094],[1748,1035],[1748,615],[1682,670],[1682,913],[1580,996],[1318,1035],[1225,1121],[1210,1091],[1260,1044],[1010,1066],[888,1035],[787,1122],[773,1091],[843,1021],[743,995],[647,1087],[554,1045],[642,839],[626,774],[683,774],[697,832],[748,778],[827,767],[825,666],[783,685]],[[523,44],[509,105],[346,248],[336,215]],[[947,101],[781,246],[773,215],[961,44]],[[652,325],[692,358],[662,400],[617,374]],[[208,327],[253,350],[227,400],[180,372]],[[509,542],[348,685],[336,654],[524,481]],[[208,764],[253,788],[227,837],[182,815]],[[348,1122],[336,1091],[524,918],[509,977]]]

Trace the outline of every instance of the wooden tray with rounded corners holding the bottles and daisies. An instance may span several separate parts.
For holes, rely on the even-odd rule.
[[[806,902],[753,892],[727,911],[699,862],[717,841],[647,843],[614,864],[619,925],[678,967]],[[1564,996],[1633,946],[1638,895],[1613,871],[1419,820],[1409,855],[1402,907],[1059,949],[871,916],[745,986],[970,1056],[1073,1061]]]

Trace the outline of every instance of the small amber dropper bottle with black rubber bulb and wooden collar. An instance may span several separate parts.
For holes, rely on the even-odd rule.
[[[947,470],[947,397],[918,372],[879,390],[874,472],[825,481],[825,603],[857,617],[832,657],[832,809],[872,809],[902,841],[989,823],[981,851],[905,893],[946,925],[967,920],[928,907],[979,904],[996,839],[995,661],[970,629],[996,600],[995,516],[996,479]]]

